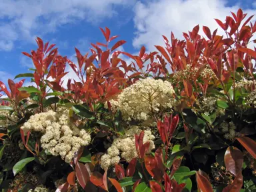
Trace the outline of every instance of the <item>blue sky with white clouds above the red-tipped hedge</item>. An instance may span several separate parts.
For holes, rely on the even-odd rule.
[[[239,7],[248,15],[256,13],[253,0],[0,0],[0,81],[32,67],[21,52],[37,49],[37,36],[74,60],[74,47],[85,54],[90,43],[104,42],[99,27],[109,27],[127,41],[121,49],[133,54],[142,45],[148,51],[163,45],[161,35],[169,38],[171,31],[182,38],[197,24],[214,30],[213,18],[224,20]]]

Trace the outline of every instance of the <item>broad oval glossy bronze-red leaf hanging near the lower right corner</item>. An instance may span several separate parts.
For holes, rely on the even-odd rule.
[[[237,147],[228,147],[224,156],[227,171],[235,176],[241,172],[243,166],[243,153]]]

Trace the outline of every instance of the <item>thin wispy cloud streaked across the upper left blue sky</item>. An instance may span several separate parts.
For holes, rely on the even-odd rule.
[[[99,23],[117,15],[117,6],[134,4],[135,0],[0,0],[0,51],[13,49],[17,39],[33,42],[35,35],[53,32],[67,23]]]

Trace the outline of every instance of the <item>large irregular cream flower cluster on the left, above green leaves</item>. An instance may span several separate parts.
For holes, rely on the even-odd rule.
[[[78,129],[69,121],[69,109],[64,107],[60,107],[57,112],[32,115],[21,129],[25,133],[29,130],[43,133],[43,149],[52,155],[61,155],[67,163],[70,163],[81,146],[89,145],[91,141],[91,136],[84,129]]]

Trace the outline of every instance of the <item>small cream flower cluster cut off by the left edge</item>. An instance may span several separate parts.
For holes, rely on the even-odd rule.
[[[10,115],[9,111],[0,111],[0,127],[15,125],[18,121],[19,118],[14,112]]]

